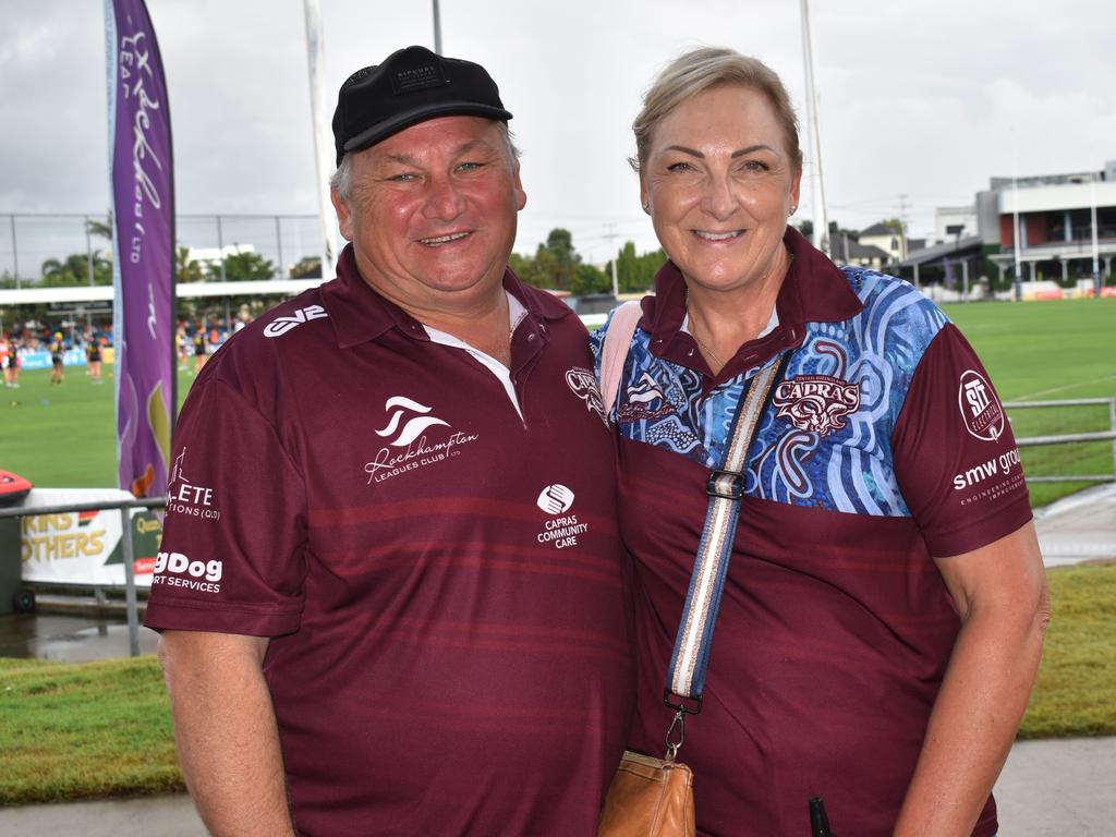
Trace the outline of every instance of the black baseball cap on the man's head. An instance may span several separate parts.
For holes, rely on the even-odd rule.
[[[443,58],[425,47],[392,52],[349,76],[337,94],[337,165],[359,151],[435,116],[484,116],[507,122],[500,90],[479,64]]]

